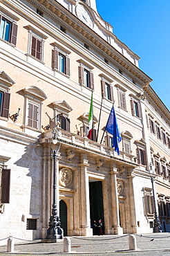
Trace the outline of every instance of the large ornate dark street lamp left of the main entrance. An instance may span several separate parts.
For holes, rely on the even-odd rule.
[[[50,149],[53,152],[51,157],[54,160],[54,170],[53,170],[53,205],[52,205],[52,216],[50,216],[49,228],[47,230],[46,239],[50,240],[50,242],[56,242],[57,239],[62,239],[62,228],[60,228],[60,219],[57,214],[57,193],[59,193],[59,188],[57,184],[58,180],[58,170],[56,172],[56,162],[59,159],[59,149],[61,146],[61,142],[58,139],[59,131],[56,128],[52,131],[52,136],[50,138]],[[57,145],[59,143],[58,149],[53,149],[52,143]]]

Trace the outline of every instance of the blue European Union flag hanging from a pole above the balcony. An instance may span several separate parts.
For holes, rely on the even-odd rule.
[[[117,152],[117,154],[119,155],[120,154],[119,143],[122,140],[122,137],[120,135],[120,128],[117,123],[114,107],[112,107],[111,109],[111,113],[110,113],[110,116],[108,117],[105,130],[108,131],[109,134],[113,135],[113,147],[115,147],[115,152]]]

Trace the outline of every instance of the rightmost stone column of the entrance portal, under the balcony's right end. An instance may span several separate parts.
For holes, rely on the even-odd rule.
[[[131,233],[137,233],[137,223],[136,223],[136,214],[135,214],[135,195],[133,189],[133,178],[134,174],[132,173],[133,170],[129,170],[128,178],[128,185],[129,185],[129,213],[131,218]],[[129,230],[130,231],[130,230]]]

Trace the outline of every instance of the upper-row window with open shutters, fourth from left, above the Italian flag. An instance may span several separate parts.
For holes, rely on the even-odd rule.
[[[79,66],[79,84],[89,89],[94,89],[94,80],[91,67],[80,64]]]

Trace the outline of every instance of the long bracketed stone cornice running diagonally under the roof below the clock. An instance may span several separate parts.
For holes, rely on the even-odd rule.
[[[30,0],[32,3],[37,4],[35,0]],[[37,0],[41,5],[43,4],[48,10],[48,15],[57,15],[58,20],[61,19],[64,23],[70,26],[71,30],[75,30],[79,35],[83,35],[88,42],[93,43],[93,45],[100,49],[100,51],[104,52],[106,55],[111,57],[118,66],[123,66],[128,73],[131,73],[133,76],[137,77],[142,83],[149,84],[152,80],[149,76],[147,76],[144,72],[140,70],[137,66],[135,66],[132,62],[130,62],[124,55],[122,55],[119,51],[117,51],[111,44],[108,44],[102,37],[97,35],[91,28],[88,28],[83,24],[82,21],[79,21],[75,15],[73,15],[69,10],[64,8],[64,6],[60,5],[53,0]],[[69,12],[69,15],[68,13]],[[67,26],[67,27],[68,27]],[[68,27],[69,28],[69,27]]]

